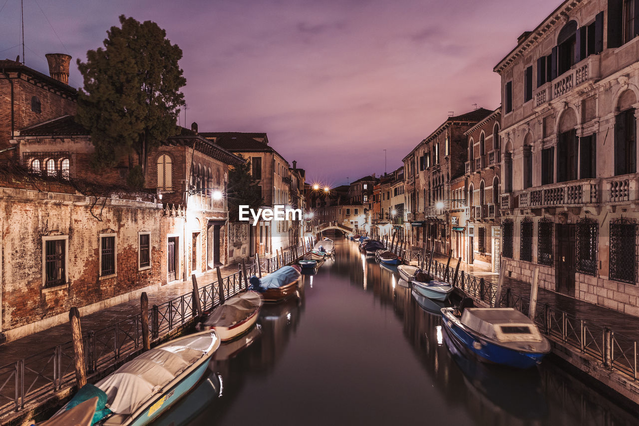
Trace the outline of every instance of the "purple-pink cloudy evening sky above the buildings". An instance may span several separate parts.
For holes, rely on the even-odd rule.
[[[4,7],[3,7],[4,4]],[[153,20],[180,45],[201,131],[267,132],[334,186],[383,173],[455,114],[500,103],[493,67],[560,0],[24,0],[26,65],[102,45],[118,15]],[[81,6],[80,6],[81,5]],[[20,46],[20,1],[0,0],[0,58]]]

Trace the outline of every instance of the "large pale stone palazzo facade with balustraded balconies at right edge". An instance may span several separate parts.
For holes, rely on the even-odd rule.
[[[502,267],[639,315],[639,16],[565,1],[494,68],[502,80]]]

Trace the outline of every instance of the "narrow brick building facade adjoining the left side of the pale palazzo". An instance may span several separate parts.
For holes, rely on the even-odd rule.
[[[465,262],[490,271],[499,271],[500,253],[500,139],[498,108],[481,122],[466,130],[468,161],[466,161],[466,226]],[[462,194],[453,191],[451,198]],[[455,244],[455,243],[453,243]]]

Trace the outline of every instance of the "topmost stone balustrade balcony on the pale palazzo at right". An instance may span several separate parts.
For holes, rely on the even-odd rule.
[[[553,81],[539,86],[534,96],[535,107],[564,95],[582,83],[599,79],[599,58],[599,55],[590,55]]]

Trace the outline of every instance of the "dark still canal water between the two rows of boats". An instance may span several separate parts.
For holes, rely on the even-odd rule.
[[[335,246],[299,297],[265,305],[258,328],[220,347],[221,395],[212,374],[154,424],[639,424],[551,359],[520,371],[452,353],[437,306],[355,242]]]

